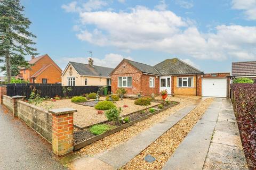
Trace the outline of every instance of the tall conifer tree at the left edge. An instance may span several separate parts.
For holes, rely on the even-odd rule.
[[[20,0],[0,0],[0,57],[4,58],[7,82],[11,80],[12,66],[24,64],[25,55],[37,54],[31,47],[36,36],[28,31],[31,22],[22,13],[24,8]],[[11,63],[14,60],[19,61]]]

